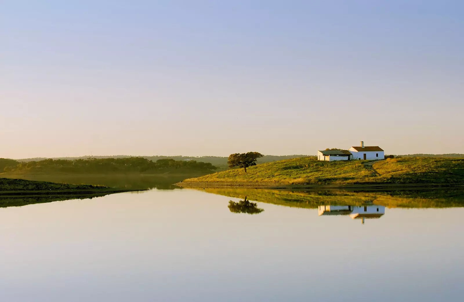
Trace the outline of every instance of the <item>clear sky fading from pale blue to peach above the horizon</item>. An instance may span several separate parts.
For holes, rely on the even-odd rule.
[[[0,157],[464,153],[464,2],[0,0]]]

